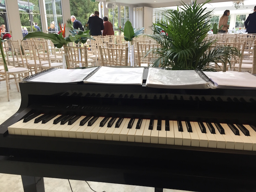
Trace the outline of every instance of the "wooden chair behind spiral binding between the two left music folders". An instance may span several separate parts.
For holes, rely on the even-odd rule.
[[[87,46],[65,46],[64,51],[68,69],[88,67],[88,64],[92,65],[94,62],[93,59],[88,59]]]

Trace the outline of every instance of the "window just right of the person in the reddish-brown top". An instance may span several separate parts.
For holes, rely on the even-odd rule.
[[[116,5],[114,9],[109,9],[109,22],[113,25],[115,35],[119,35],[118,28],[124,29],[128,20],[130,20],[130,6]]]

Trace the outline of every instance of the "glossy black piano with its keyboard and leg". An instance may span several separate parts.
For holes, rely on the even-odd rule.
[[[256,191],[256,90],[19,84],[0,172],[190,191]],[[44,75],[44,74],[40,74]]]

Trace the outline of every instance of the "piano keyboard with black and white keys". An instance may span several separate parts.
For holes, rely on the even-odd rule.
[[[256,151],[256,128],[248,124],[32,114],[10,125],[8,132]]]

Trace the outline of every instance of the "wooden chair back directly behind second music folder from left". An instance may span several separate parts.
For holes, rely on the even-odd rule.
[[[121,49],[112,47],[102,47],[101,45],[99,45],[99,51],[102,66],[128,65],[128,47]]]

